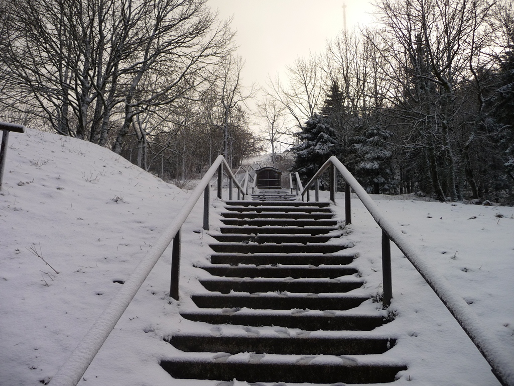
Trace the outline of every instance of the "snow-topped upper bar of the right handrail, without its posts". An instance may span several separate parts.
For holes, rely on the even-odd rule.
[[[302,197],[310,185],[312,185],[331,164],[339,170],[346,183],[352,187],[357,197],[362,201],[366,209],[368,209],[382,231],[389,236],[405,257],[409,259],[414,268],[423,276],[428,285],[433,289],[446,308],[448,308],[455,320],[461,325],[471,341],[492,367],[493,374],[500,380],[502,385],[514,386],[514,363],[506,359],[509,356],[499,348],[501,345],[498,339],[487,330],[478,315],[473,312],[464,299],[457,295],[457,291],[448,280],[439,275],[436,270],[427,264],[428,259],[382,214],[370,195],[336,156],[331,156],[323,166],[321,166],[315,176],[305,185],[305,188],[301,190]]]

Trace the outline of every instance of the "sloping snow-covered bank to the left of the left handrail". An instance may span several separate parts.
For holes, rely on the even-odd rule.
[[[187,195],[97,145],[30,129],[9,139],[0,384],[34,385],[57,371]],[[169,288],[164,276],[159,296]],[[126,319],[151,330],[145,317]]]

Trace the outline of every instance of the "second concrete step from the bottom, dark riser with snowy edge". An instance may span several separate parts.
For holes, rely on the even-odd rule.
[[[267,337],[176,334],[168,341],[175,348],[207,353],[255,353],[282,355],[366,355],[382,354],[393,347],[395,339],[368,334],[345,337]]]

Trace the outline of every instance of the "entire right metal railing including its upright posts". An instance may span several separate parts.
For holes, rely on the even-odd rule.
[[[485,328],[478,315],[472,311],[469,305],[457,295],[455,289],[450,285],[448,280],[439,275],[429,264],[427,258],[421,254],[417,248],[400,232],[397,227],[387,219],[373,201],[370,195],[357,182],[352,173],[344,167],[336,156],[331,156],[321,168],[316,172],[314,177],[302,187],[300,177],[296,173],[297,178],[297,194],[307,195],[309,201],[309,188],[314,184],[316,201],[319,201],[319,178],[327,169],[330,173],[330,199],[335,203],[335,192],[337,186],[337,170],[341,173],[345,181],[345,216],[346,224],[352,223],[351,217],[351,191],[354,191],[366,209],[370,212],[373,219],[382,229],[382,279],[383,279],[383,302],[389,305],[392,298],[391,285],[391,247],[392,240],[399,250],[409,259],[416,270],[423,276],[425,281],[437,294],[439,299],[451,312],[455,320],[461,325],[471,341],[479,349],[480,353],[487,360],[492,368],[493,374],[498,378],[504,386],[514,386],[514,363],[507,358],[508,355],[499,348],[499,342]]]

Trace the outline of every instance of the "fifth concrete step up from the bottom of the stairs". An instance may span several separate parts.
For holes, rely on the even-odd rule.
[[[205,278],[199,279],[201,285],[213,292],[292,292],[292,293],[339,293],[349,292],[361,287],[363,279],[352,278],[339,281],[334,279],[292,279],[283,278]]]

